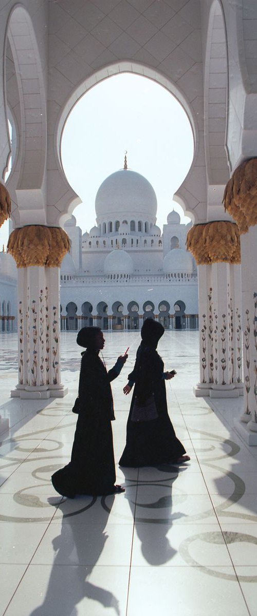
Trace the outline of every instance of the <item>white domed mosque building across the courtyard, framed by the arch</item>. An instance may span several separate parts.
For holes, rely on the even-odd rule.
[[[166,329],[198,327],[198,281],[187,232],[176,211],[163,233],[157,198],[145,177],[124,168],[99,187],[96,226],[81,236],[74,216],[65,224],[71,251],[60,270],[62,330],[97,324],[138,330],[146,317]]]

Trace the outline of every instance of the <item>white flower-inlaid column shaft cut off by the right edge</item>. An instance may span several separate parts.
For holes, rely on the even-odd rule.
[[[241,235],[243,415],[237,431],[248,445],[257,445],[257,225]]]

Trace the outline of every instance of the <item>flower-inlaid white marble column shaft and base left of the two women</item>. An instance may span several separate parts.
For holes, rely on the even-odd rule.
[[[59,267],[18,268],[18,385],[12,397],[62,397]]]

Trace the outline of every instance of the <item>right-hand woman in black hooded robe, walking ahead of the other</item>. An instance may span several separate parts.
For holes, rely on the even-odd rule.
[[[145,319],[141,329],[136,363],[123,389],[127,395],[134,385],[120,466],[182,464],[190,460],[168,416],[165,380],[173,378],[174,371],[163,372],[163,360],[156,350],[164,331],[161,323],[152,318]]]

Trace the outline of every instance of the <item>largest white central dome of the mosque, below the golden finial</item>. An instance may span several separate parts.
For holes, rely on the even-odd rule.
[[[97,217],[121,213],[155,218],[157,198],[150,182],[135,171],[120,169],[108,176],[96,195]]]

